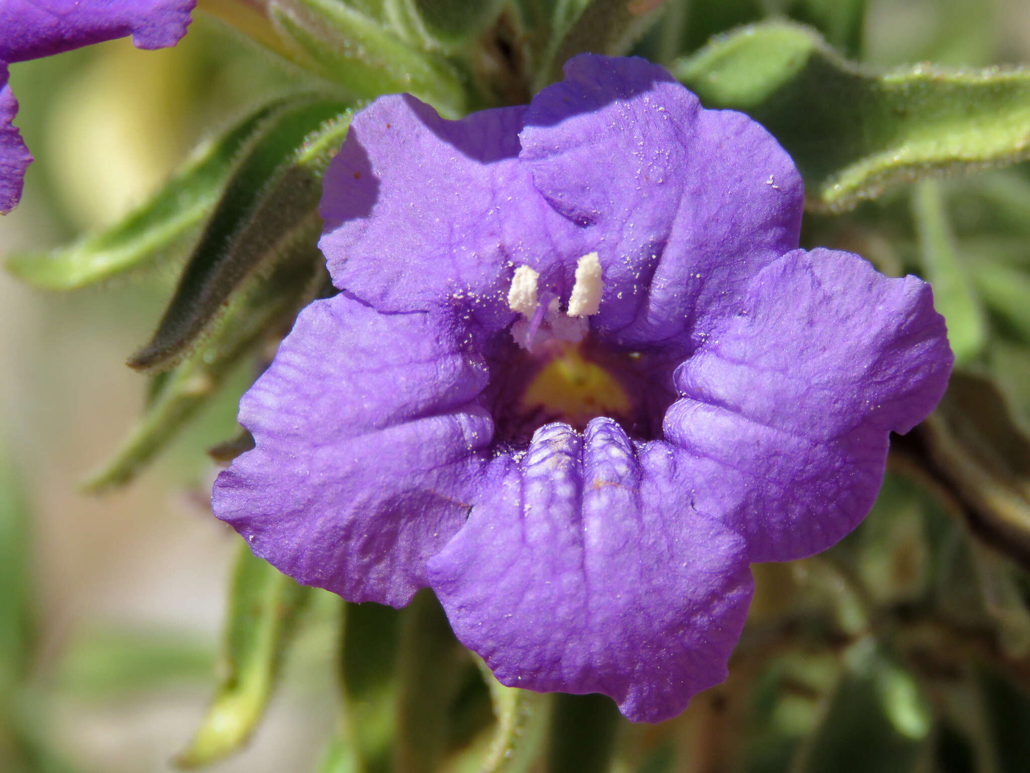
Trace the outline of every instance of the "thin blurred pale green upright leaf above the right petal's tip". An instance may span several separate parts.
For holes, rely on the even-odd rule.
[[[933,285],[933,303],[948,323],[956,363],[974,360],[987,343],[987,323],[959,257],[948,222],[940,184],[923,180],[913,190],[913,215],[919,234],[924,278]]]

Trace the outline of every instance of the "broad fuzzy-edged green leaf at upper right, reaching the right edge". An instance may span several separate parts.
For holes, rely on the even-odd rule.
[[[888,187],[1030,158],[1030,70],[878,74],[809,28],[755,25],[674,66],[709,107],[744,110],[794,159],[808,204],[840,211]]]

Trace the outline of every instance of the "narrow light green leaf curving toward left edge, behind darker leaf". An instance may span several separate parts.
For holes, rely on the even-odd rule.
[[[208,215],[239,156],[284,103],[270,102],[203,143],[158,193],[110,228],[49,255],[15,255],[7,269],[37,288],[74,290],[152,262]]]

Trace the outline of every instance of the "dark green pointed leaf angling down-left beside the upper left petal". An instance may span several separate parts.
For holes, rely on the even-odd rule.
[[[164,370],[180,359],[246,279],[321,229],[321,175],[350,125],[345,105],[311,98],[268,122],[234,172],[158,330],[129,365]]]

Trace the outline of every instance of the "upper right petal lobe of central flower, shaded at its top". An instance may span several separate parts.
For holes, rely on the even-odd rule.
[[[581,55],[534,98],[520,158],[600,256],[596,325],[625,344],[693,332],[798,244],[803,188],[761,126],[643,59]]]

